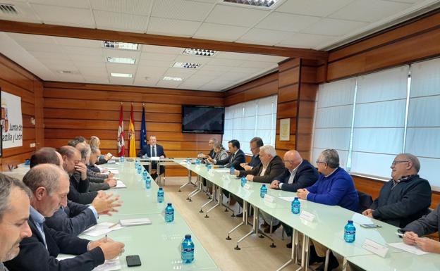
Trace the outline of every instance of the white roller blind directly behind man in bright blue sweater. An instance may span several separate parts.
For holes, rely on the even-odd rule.
[[[341,166],[346,166],[355,87],[355,78],[319,86],[313,135],[313,163],[324,149],[336,149]]]

